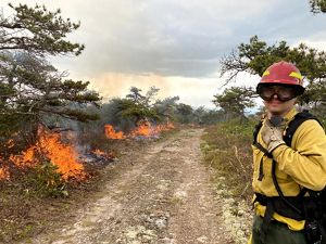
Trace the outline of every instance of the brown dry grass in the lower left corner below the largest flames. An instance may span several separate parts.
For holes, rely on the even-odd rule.
[[[39,192],[30,183],[33,177],[34,172],[26,172],[0,182],[0,243],[27,242],[29,236],[72,218],[73,209],[98,188],[92,182],[83,182],[67,187],[68,197],[53,197]]]

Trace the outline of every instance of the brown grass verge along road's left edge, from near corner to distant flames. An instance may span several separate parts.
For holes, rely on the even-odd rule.
[[[148,143],[173,137],[178,129],[165,131],[155,140],[111,140],[101,144],[100,150],[121,155],[140,150]],[[89,178],[82,182],[74,180],[59,185],[58,192],[39,191],[34,180],[35,172],[18,172],[10,180],[0,181],[0,243],[28,243],[28,239],[43,231],[59,228],[76,217],[76,210],[92,200],[110,180],[109,164],[121,164],[118,159],[106,164],[85,165]],[[32,183],[34,182],[34,183]],[[64,191],[64,194],[61,194]],[[55,194],[58,193],[58,194]]]

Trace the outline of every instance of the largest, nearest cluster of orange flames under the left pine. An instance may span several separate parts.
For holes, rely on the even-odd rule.
[[[61,142],[60,133],[46,131],[43,128],[38,130],[38,140],[21,155],[11,155],[10,159],[20,168],[34,167],[40,164],[37,155],[43,155],[58,167],[58,172],[64,180],[75,178],[83,180],[86,178],[84,166],[77,160],[76,150]]]

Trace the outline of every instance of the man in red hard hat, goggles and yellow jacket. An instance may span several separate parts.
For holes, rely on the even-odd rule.
[[[256,91],[267,114],[252,146],[255,215],[249,243],[310,244],[306,223],[311,221],[306,221],[302,197],[310,197],[303,189],[321,191],[326,185],[324,129],[316,119],[306,119],[290,138],[290,146],[285,142],[298,113],[297,97],[304,92],[294,65],[283,61],[269,66]]]

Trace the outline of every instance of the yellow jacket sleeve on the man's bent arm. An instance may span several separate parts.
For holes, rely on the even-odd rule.
[[[304,121],[294,132],[291,147],[280,145],[273,151],[279,170],[300,185],[321,191],[326,185],[326,136],[313,119]]]

